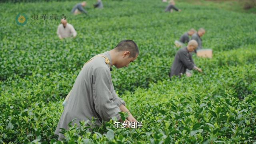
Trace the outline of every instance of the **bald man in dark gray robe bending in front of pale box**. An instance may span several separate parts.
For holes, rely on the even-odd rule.
[[[172,78],[174,75],[181,76],[182,74],[185,74],[186,69],[194,69],[202,72],[202,70],[194,64],[190,54],[190,52],[193,52],[197,46],[198,44],[195,40],[190,40],[187,47],[180,48],[180,50],[178,50],[178,52],[175,54],[172,67],[170,69],[170,78]]]

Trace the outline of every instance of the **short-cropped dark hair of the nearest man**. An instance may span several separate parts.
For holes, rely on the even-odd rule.
[[[139,48],[133,40],[122,40],[117,44],[114,50],[118,52],[128,51],[130,52],[130,57],[133,58],[135,58],[139,54]]]

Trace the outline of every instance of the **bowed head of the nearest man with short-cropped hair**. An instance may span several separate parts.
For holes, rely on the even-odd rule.
[[[139,54],[139,48],[133,40],[122,40],[110,51],[112,65],[116,68],[128,67]]]

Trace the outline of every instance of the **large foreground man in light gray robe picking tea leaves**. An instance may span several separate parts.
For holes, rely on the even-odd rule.
[[[110,71],[113,65],[116,68],[128,67],[138,54],[138,46],[134,41],[123,40],[114,49],[98,54],[84,64],[65,99],[66,104],[55,130],[58,140],[64,138],[60,133],[61,128],[68,130],[68,123],[74,119],[72,125],[76,123],[80,126],[80,121],[94,117],[95,124],[100,126],[102,121],[109,121],[112,117],[122,122],[119,112],[128,112],[125,122],[137,122],[125,107],[124,100],[116,94]]]

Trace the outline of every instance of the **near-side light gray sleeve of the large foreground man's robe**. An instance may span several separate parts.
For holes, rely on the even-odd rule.
[[[99,116],[109,121],[113,116],[120,119],[120,108],[114,104],[111,94],[111,75],[107,68],[97,68],[94,76],[93,99]]]

